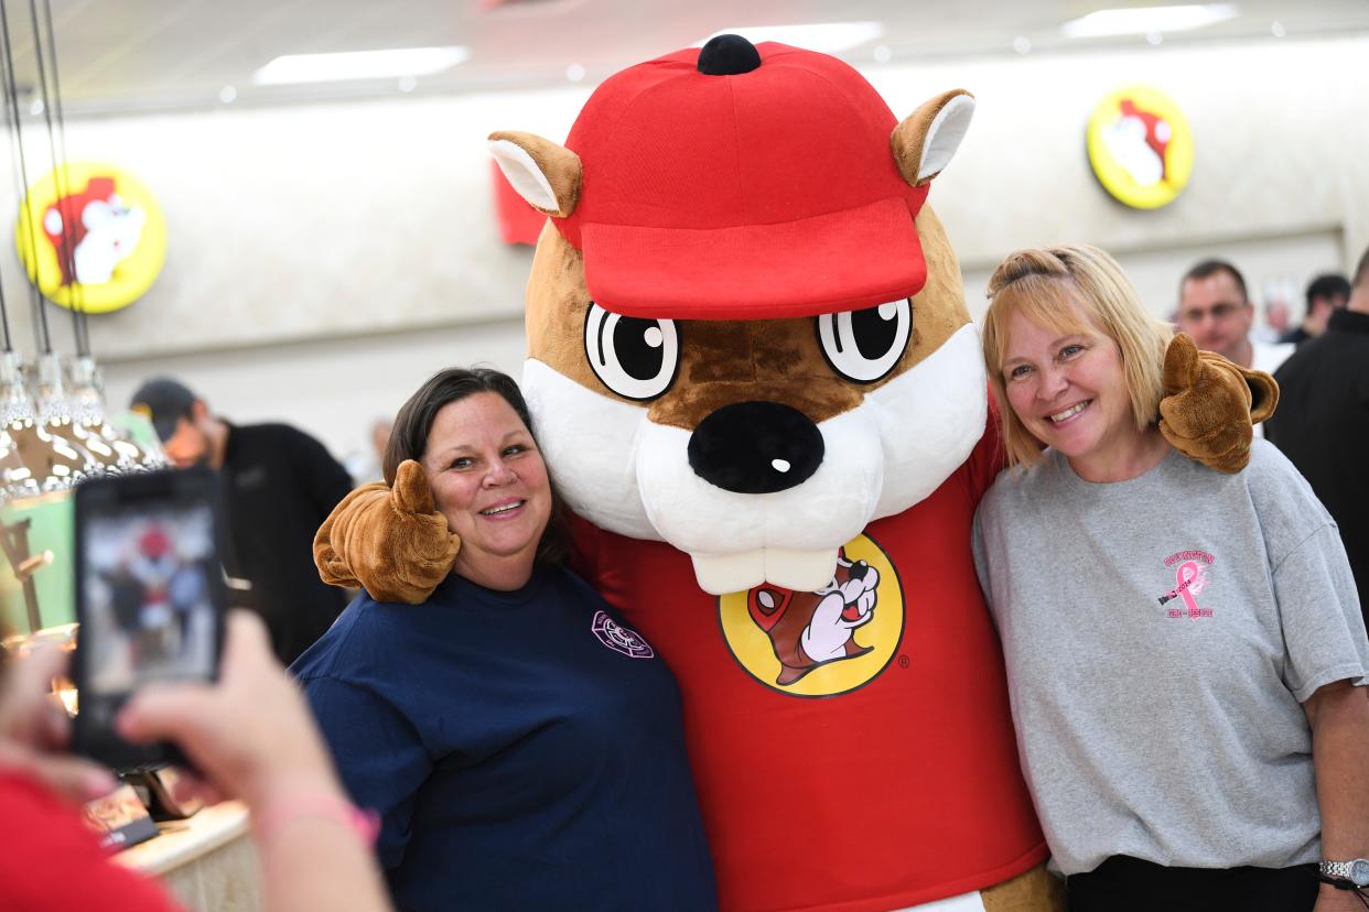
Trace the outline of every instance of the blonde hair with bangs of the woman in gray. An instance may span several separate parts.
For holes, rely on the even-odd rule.
[[[998,398],[1009,465],[1040,461],[1040,442],[1013,413],[1005,388],[1003,357],[1014,313],[1061,334],[1094,335],[1101,328],[1121,350],[1136,428],[1158,420],[1173,328],[1146,312],[1135,286],[1108,253],[1083,245],[1016,250],[994,269],[988,298],[984,365]]]

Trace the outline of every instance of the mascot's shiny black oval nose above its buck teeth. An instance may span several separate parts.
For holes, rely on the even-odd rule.
[[[732,402],[689,439],[694,474],[724,491],[773,494],[806,481],[823,462],[823,432],[778,402]]]

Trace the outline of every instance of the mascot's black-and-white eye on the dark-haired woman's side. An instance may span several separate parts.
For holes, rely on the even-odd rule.
[[[642,320],[590,304],[585,354],[594,376],[628,399],[654,399],[671,388],[680,343],[674,320]]]

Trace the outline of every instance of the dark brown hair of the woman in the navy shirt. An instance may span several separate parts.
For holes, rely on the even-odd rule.
[[[394,416],[390,442],[385,447],[385,483],[394,484],[394,474],[405,459],[423,461],[428,433],[433,431],[438,412],[478,392],[493,392],[508,402],[523,421],[527,432],[533,435],[533,443],[537,444],[533,416],[528,414],[527,402],[523,401],[523,392],[517,388],[513,377],[490,368],[448,368],[433,375]],[[538,450],[541,450],[539,444]],[[537,544],[537,562],[561,563],[571,552],[570,526],[564,502],[552,481],[550,470],[548,470],[548,485],[552,491],[552,511],[546,529],[542,531],[542,539]]]

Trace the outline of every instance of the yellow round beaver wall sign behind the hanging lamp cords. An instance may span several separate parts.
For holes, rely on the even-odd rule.
[[[166,222],[146,187],[119,168],[67,163],[31,187],[15,243],[29,280],[51,301],[118,310],[152,287],[167,252]]]

